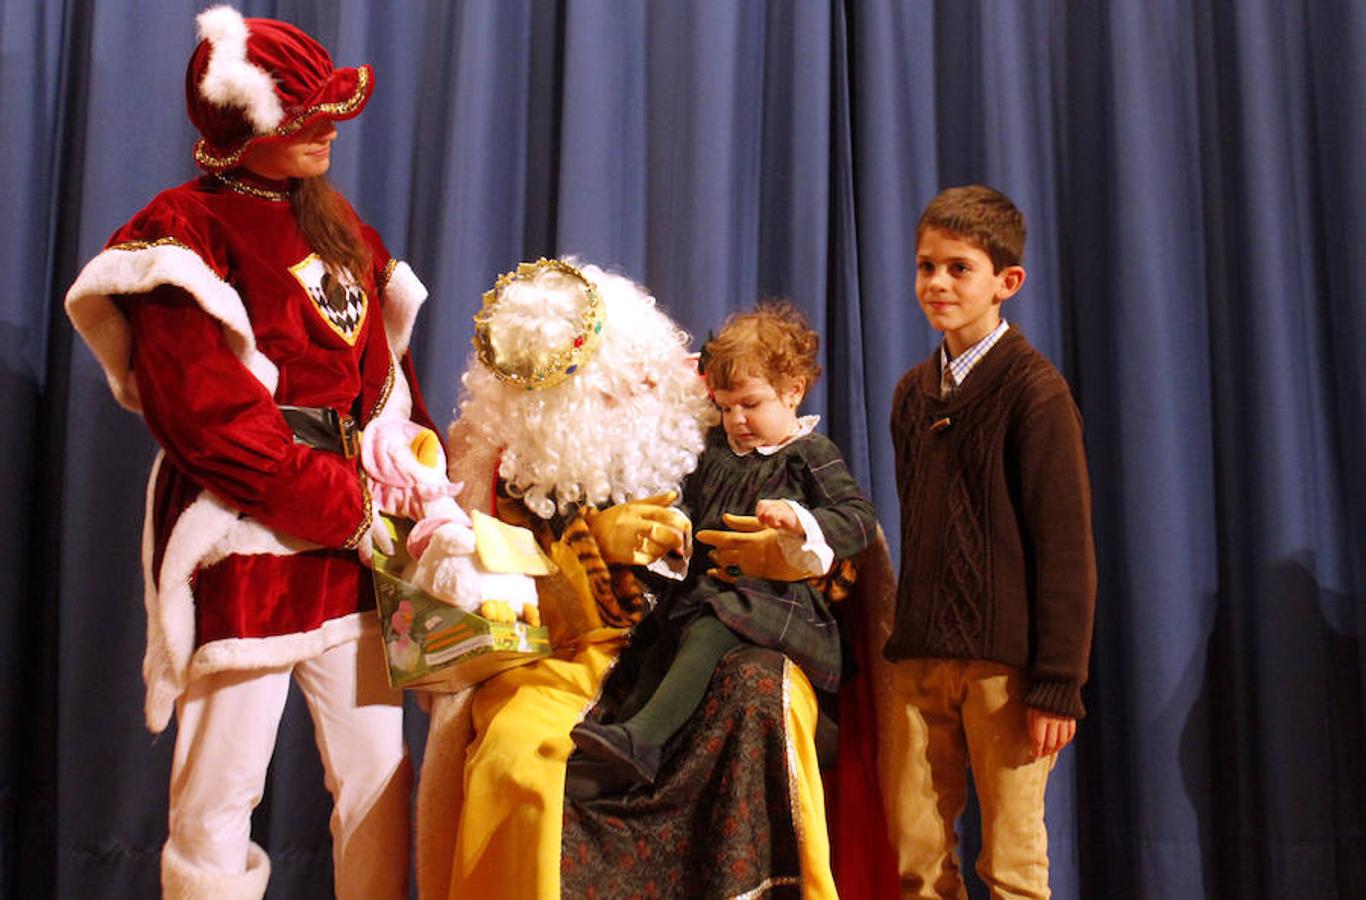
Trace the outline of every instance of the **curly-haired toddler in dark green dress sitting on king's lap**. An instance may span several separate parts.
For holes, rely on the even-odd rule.
[[[840,684],[840,638],[826,597],[807,576],[821,576],[835,560],[854,556],[877,534],[873,505],[863,498],[839,449],[814,427],[820,417],[796,410],[821,369],[820,339],[790,303],[761,303],[729,317],[706,343],[702,367],[721,412],[680,505],[697,530],[734,524],[727,514],[753,514],[780,531],[779,545],[795,580],[709,568],[694,554],[683,583],[654,616],[665,634],[642,666],[623,703],[628,718],[583,721],[571,736],[587,757],[615,763],[627,784],[652,784],[664,743],[691,717],[712,672],[742,643],[781,650],[811,684]],[[667,668],[667,671],[664,671]],[[578,799],[608,789],[576,783]]]

